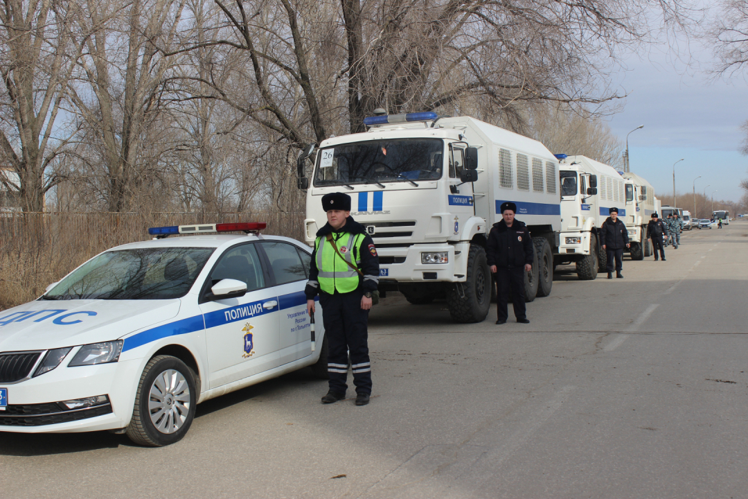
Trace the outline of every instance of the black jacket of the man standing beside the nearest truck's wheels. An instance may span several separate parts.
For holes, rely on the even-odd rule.
[[[527,225],[515,218],[512,227],[501,220],[491,227],[487,245],[488,265],[517,269],[533,264],[533,239]]]

